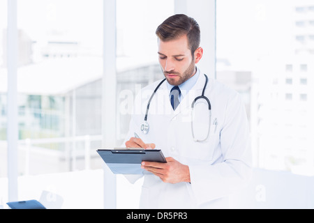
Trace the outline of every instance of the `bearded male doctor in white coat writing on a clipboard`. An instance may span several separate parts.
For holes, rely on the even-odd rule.
[[[151,174],[143,175],[140,208],[227,208],[227,196],[251,177],[244,103],[239,93],[207,80],[195,66],[203,49],[193,18],[173,15],[158,26],[156,35],[166,81],[145,87],[135,98],[125,144],[161,149],[167,162],[142,162]],[[141,126],[154,90],[145,132]],[[202,93],[209,99],[210,111],[204,98],[191,106]],[[140,177],[126,175],[130,182]]]

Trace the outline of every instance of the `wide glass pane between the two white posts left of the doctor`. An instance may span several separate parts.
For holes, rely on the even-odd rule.
[[[103,1],[17,1],[17,26],[20,176],[101,169]],[[64,189],[49,181],[42,190]],[[20,199],[40,194],[22,185]]]

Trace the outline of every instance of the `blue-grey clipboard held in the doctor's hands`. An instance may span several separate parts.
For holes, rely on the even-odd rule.
[[[160,149],[99,148],[97,153],[114,174],[151,174],[141,168],[142,161],[167,162]]]

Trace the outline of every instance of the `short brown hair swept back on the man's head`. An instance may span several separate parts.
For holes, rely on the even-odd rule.
[[[195,50],[200,47],[200,26],[192,17],[184,14],[168,17],[157,27],[156,35],[163,41],[174,40],[186,35],[192,56],[194,56]]]

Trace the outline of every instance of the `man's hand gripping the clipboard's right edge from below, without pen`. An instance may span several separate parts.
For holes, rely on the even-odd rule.
[[[190,169],[172,157],[166,157],[167,162],[142,162],[142,168],[158,176],[165,183],[190,183]]]

